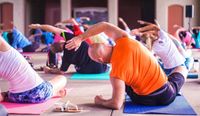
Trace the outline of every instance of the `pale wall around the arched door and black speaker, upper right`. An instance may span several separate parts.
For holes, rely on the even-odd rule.
[[[168,6],[172,4],[179,4],[184,7],[183,25],[186,29],[188,28],[189,19],[185,18],[185,5],[194,5],[194,18],[191,19],[191,26],[200,24],[199,0],[156,0],[156,19],[165,31],[168,30]]]

